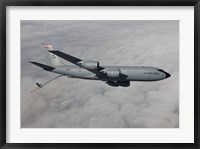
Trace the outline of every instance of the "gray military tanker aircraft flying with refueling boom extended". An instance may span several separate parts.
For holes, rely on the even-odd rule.
[[[46,71],[60,74],[58,77],[79,78],[88,80],[101,80],[113,87],[129,87],[130,81],[158,81],[170,77],[170,74],[156,67],[145,66],[101,66],[98,61],[82,60],[54,50],[51,44],[43,44],[47,64],[30,62]],[[62,60],[73,65],[65,65]],[[56,78],[58,78],[56,77]],[[56,78],[52,79],[55,80]],[[42,84],[36,83],[38,88],[43,87],[52,80]]]

